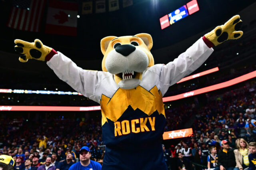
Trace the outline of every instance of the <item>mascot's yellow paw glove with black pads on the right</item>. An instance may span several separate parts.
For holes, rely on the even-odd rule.
[[[240,20],[239,15],[236,15],[228,20],[224,25],[217,26],[214,28],[214,30],[205,34],[204,36],[215,46],[217,46],[226,40],[238,39],[242,37],[243,32],[237,31],[241,25],[242,20]]]

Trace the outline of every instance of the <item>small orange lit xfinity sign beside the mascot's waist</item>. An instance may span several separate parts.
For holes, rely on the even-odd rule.
[[[175,138],[185,138],[185,137],[192,136],[192,134],[193,134],[192,128],[173,130],[173,131],[164,132],[163,139],[167,140],[167,139],[175,139]]]

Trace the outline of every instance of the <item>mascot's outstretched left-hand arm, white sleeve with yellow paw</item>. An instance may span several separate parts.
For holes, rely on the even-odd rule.
[[[43,45],[38,39],[32,43],[22,40],[15,40],[14,43],[16,43],[15,51],[22,54],[19,58],[21,62],[27,62],[28,59],[47,61],[47,65],[61,80],[86,97],[94,95],[98,82],[110,76],[107,72],[84,70],[78,67],[71,59]],[[94,96],[91,99],[96,102],[99,100]]]

